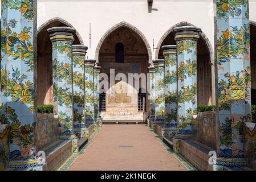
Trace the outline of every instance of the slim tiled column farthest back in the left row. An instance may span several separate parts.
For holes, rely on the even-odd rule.
[[[100,118],[100,68],[94,67],[94,115],[97,127],[101,126]]]

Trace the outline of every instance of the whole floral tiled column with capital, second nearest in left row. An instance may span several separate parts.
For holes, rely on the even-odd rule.
[[[59,139],[73,140],[73,152],[78,151],[73,131],[72,42],[74,28],[53,27],[48,34],[52,41],[52,78],[54,115],[58,118]]]

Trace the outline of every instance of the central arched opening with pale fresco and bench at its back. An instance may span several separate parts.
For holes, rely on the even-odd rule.
[[[148,48],[137,31],[132,30],[129,26],[123,24],[108,32],[109,34],[105,36],[99,48],[98,61],[101,73],[106,73],[110,78],[110,69],[115,69],[115,75],[121,73],[127,77],[127,80],[121,78],[120,81],[115,81],[114,96],[109,93],[111,89],[106,92],[105,110],[101,110],[100,115],[105,122],[116,122],[116,120],[119,122],[144,122],[145,106],[144,110],[138,109],[140,96],[138,93],[139,88],[143,87],[142,80],[135,78],[133,85],[130,85],[128,84],[128,73],[137,73],[138,75],[147,73]],[[139,81],[139,88],[135,86],[136,81]],[[128,90],[133,90],[133,93],[128,93]],[[143,99],[144,105],[148,102],[145,99]],[[140,104],[143,106],[141,101]]]

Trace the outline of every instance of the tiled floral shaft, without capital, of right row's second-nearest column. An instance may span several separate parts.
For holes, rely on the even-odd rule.
[[[192,117],[197,115],[197,42],[177,41],[178,132],[192,133]]]

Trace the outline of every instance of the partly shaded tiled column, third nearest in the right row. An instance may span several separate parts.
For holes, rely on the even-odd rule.
[[[165,57],[165,132],[172,137],[177,132],[177,46],[162,46]]]

